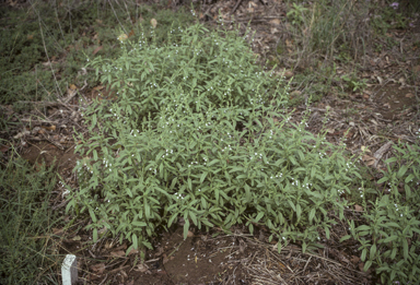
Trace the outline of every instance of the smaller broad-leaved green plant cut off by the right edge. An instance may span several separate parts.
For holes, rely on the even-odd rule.
[[[374,265],[383,284],[409,284],[420,275],[420,146],[400,143],[394,151],[377,181],[378,198],[363,199],[365,223],[349,222],[351,234],[342,240],[353,237],[361,244],[364,270]]]

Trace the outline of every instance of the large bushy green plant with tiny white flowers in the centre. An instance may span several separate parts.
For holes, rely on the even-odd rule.
[[[91,63],[118,98],[86,110],[97,135],[80,136],[67,211],[90,214],[95,241],[128,239],[127,252],[151,248],[156,227],[178,218],[185,237],[192,225],[265,225],[279,250],[320,247],[359,176],[342,149],[291,123],[287,86],[254,64],[242,37],[195,25],[167,38],[140,37],[119,59]]]

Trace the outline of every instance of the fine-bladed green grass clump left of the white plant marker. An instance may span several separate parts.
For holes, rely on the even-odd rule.
[[[55,185],[55,173],[45,166],[34,171],[18,158],[1,167],[1,284],[58,283],[59,258],[47,248],[51,227],[60,221],[48,205]]]

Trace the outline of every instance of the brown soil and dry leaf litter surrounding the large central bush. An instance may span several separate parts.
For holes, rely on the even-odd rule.
[[[171,5],[176,9],[176,4]],[[284,3],[205,1],[199,17],[215,25],[221,13],[229,26],[232,12],[235,22],[241,23],[242,32],[250,21],[250,27],[256,32],[254,52],[261,59],[269,57],[284,32],[280,24],[280,19],[285,16]],[[415,143],[416,132],[420,129],[420,94],[418,86],[407,83],[405,74],[412,72],[419,82],[419,52],[408,48],[416,37],[420,37],[420,22],[416,25],[412,31],[390,32],[389,36],[400,43],[400,49],[370,55],[370,67],[363,72],[371,83],[366,90],[349,92],[345,98],[331,92],[312,104],[307,130],[318,133],[328,112],[325,124],[328,141],[337,143],[347,135],[348,151],[359,154],[369,149],[363,162],[375,168],[383,167],[382,162],[392,155],[393,143],[398,140]],[[401,60],[400,50],[406,50],[406,60]],[[288,62],[282,68],[289,78],[296,73]],[[337,72],[348,70],[338,66]],[[56,163],[60,176],[68,185],[77,187],[72,168],[79,157],[73,154],[73,130],[88,133],[79,112],[79,99],[83,97],[83,102],[91,102],[97,88],[89,91],[85,86],[70,86],[61,100],[38,102],[31,114],[18,114],[11,106],[0,106],[3,116],[25,123],[24,129],[12,131],[13,138],[5,138],[5,132],[1,132],[2,139],[10,141],[0,147],[4,162],[13,145],[35,167],[42,161],[47,165]],[[305,91],[292,85],[291,94],[305,97],[308,95]],[[299,122],[305,110],[305,105],[295,107],[292,120]],[[65,189],[58,185],[51,207],[63,213],[66,204]],[[362,211],[355,205],[347,211],[347,215],[359,219]],[[70,216],[65,218],[70,221]],[[81,229],[88,219],[79,221],[66,233],[55,228],[50,247],[60,254],[78,257],[79,284],[377,284],[373,272],[363,272],[359,246],[351,240],[339,242],[348,234],[348,226],[338,218],[336,221],[330,239],[320,236],[325,248],[312,253],[302,253],[300,245],[289,245],[278,253],[277,242],[268,241],[269,233],[261,226],[256,226],[254,235],[240,226],[231,228],[231,234],[219,228],[210,233],[190,229],[184,240],[183,221],[168,233],[162,230],[159,234],[153,240],[154,250],[147,252],[143,264],[139,262],[137,251],[126,257],[129,245],[120,245],[116,239],[103,239],[92,245],[90,233]]]

